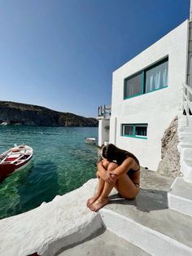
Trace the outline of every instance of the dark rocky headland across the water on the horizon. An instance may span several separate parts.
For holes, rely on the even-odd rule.
[[[95,118],[61,113],[31,104],[0,101],[0,124],[27,126],[98,126]]]

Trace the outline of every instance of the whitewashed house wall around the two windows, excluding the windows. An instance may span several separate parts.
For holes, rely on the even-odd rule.
[[[113,73],[110,143],[133,152],[142,166],[156,170],[161,159],[161,138],[181,108],[185,82],[188,20],[142,51]],[[131,99],[124,99],[124,78],[168,56],[168,87]],[[113,120],[116,120],[115,122]],[[148,123],[147,139],[120,135],[123,123]]]

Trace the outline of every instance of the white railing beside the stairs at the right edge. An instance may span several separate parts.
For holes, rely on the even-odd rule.
[[[183,114],[187,117],[192,115],[192,88],[183,83]]]

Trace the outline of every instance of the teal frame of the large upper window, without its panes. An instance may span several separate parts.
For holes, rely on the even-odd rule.
[[[160,64],[163,64],[163,63],[167,62],[167,61],[168,61],[168,56],[165,57],[163,60],[159,60],[155,64],[152,64],[151,66],[149,66],[147,68],[144,68],[143,70],[141,70],[141,71],[139,71],[137,73],[134,73],[132,76],[125,77],[124,78],[124,99],[131,99],[131,98],[137,97],[139,95],[144,95],[144,94],[148,94],[148,93],[151,93],[153,91],[156,91],[156,90],[162,90],[162,89],[168,88],[168,86],[162,86],[162,87],[154,89],[154,90],[146,91],[146,72],[151,70],[152,68],[155,68],[155,67],[159,66]],[[137,94],[137,95],[131,95],[129,97],[126,97],[125,96],[125,86],[126,86],[127,80],[129,80],[129,79],[131,79],[133,77],[136,77],[139,74],[142,75],[142,92],[140,94]]]

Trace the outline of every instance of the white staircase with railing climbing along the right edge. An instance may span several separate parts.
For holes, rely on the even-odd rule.
[[[168,192],[168,207],[192,216],[192,89],[183,86],[183,112],[178,116],[178,151],[183,177],[178,177]]]

